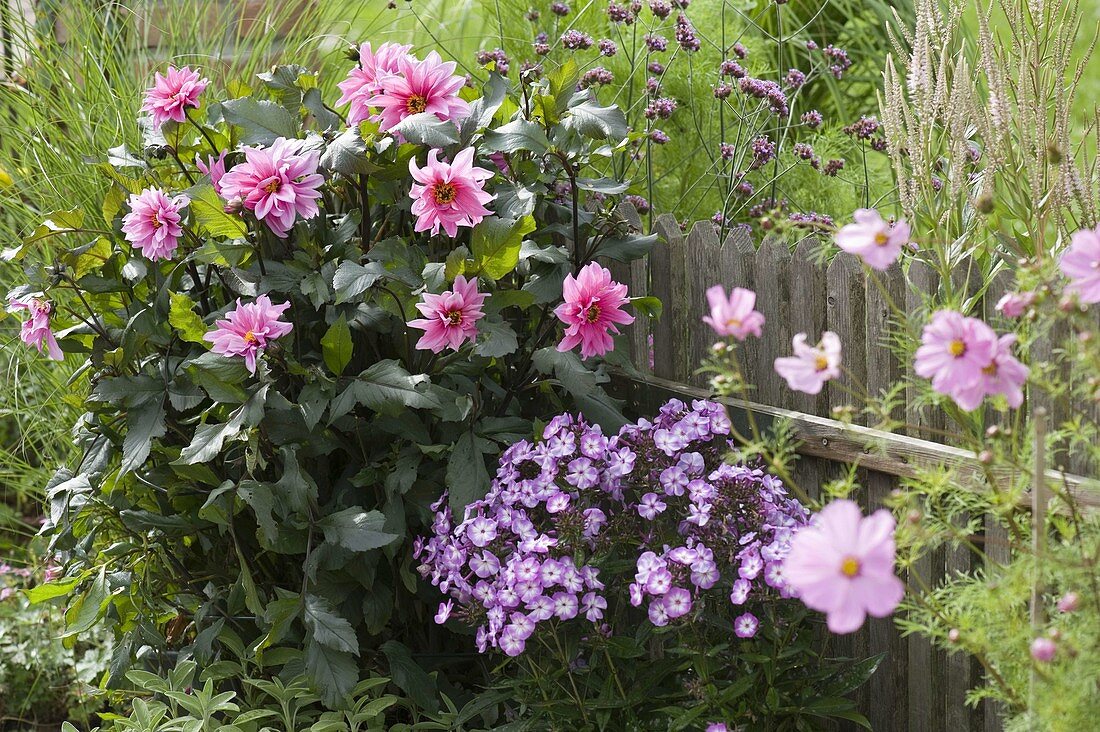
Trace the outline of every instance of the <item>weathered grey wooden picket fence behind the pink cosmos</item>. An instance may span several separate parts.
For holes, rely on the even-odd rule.
[[[654,412],[672,396],[708,395],[706,376],[695,373],[716,340],[702,321],[707,312],[704,293],[714,284],[722,284],[727,291],[748,287],[757,293],[757,309],[767,319],[763,338],[750,338],[739,346],[746,380],[755,391],[750,404],[735,400],[726,403],[735,423],[744,424],[748,412],[754,413],[758,425],[766,426],[776,418],[789,422],[801,440],[794,472],[800,485],[814,493],[823,481],[840,477],[851,463],[857,463],[862,487],[857,499],[868,510],[881,505],[899,489],[900,481],[914,476],[919,467],[949,463],[959,468],[960,490],[980,485],[980,469],[974,455],[944,444],[950,440],[941,436],[948,427],[943,413],[908,403],[899,405],[898,416],[909,425],[908,434],[859,426],[858,415],[856,426],[844,424],[833,419],[832,414],[834,407],[853,403],[845,390],[831,384],[817,396],[793,392],[772,365],[777,357],[790,354],[795,334],[805,332],[815,342],[822,331],[832,330],[840,337],[845,349],[847,373],[839,383],[858,380],[871,394],[890,389],[904,374],[902,364],[886,343],[891,321],[897,321],[898,316],[883,293],[906,312],[917,312],[921,293],[934,293],[938,284],[930,267],[912,262],[903,273],[895,265],[881,274],[881,286],[877,286],[849,254],[839,253],[827,264],[821,262],[821,244],[813,238],[793,249],[776,238],[757,247],[746,232],[738,230],[719,241],[710,221],[697,222],[685,233],[671,216],[658,218],[653,231],[660,241],[648,261],[609,264],[616,278],[629,286],[631,295],[652,295],[663,303],[660,319],[638,318],[627,330],[634,362],[639,364],[641,375],[619,374],[614,380],[616,393],[638,415]],[[981,291],[980,312],[992,317],[993,305],[1005,283],[998,280],[976,284]],[[1066,462],[1056,467],[1093,474],[1087,472],[1089,466],[1080,458],[1067,455]],[[1066,476],[1059,473],[1057,479],[1060,483]],[[1068,484],[1082,502],[1100,505],[1093,481],[1070,477]],[[982,536],[974,538],[985,544],[993,559],[1008,554],[1005,537],[991,522]],[[935,584],[944,577],[970,570],[972,561],[972,555],[965,549],[939,550],[924,559],[915,571]],[[859,707],[876,731],[1001,729],[991,702],[977,708],[965,703],[967,690],[981,681],[977,662],[966,654],[946,655],[923,637],[903,637],[891,619],[872,619],[859,633],[838,638],[834,647],[842,655],[857,657],[887,654],[878,671],[857,692]]]

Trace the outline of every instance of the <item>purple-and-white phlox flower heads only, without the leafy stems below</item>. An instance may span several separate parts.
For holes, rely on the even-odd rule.
[[[431,536],[414,551],[448,596],[437,622],[466,621],[479,651],[516,656],[542,623],[583,616],[609,632],[605,583],[629,583],[629,602],[654,625],[688,615],[712,589],[719,605],[788,597],[781,562],[809,514],[778,479],[722,461],[730,430],[722,405],[703,401],[673,400],[612,437],[554,417],[540,441],[505,450],[488,494],[461,521],[446,496],[432,506]],[[622,570],[601,561],[620,567],[624,549],[630,570],[608,576]],[[736,635],[756,633],[749,614]]]

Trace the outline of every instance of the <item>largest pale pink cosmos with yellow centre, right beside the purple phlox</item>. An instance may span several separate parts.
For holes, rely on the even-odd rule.
[[[901,602],[905,586],[893,571],[894,526],[884,509],[865,517],[854,501],[840,500],[795,532],[783,573],[795,597],[827,613],[832,632],[851,633],[868,613],[886,618]]]

